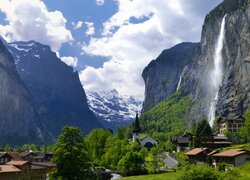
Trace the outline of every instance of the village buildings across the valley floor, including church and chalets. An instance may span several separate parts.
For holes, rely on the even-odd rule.
[[[239,133],[240,129],[245,126],[245,118],[242,116],[234,119],[219,118],[217,123],[219,131],[213,134],[212,139],[201,142],[200,147],[192,145],[196,137],[191,133],[171,137],[175,149],[171,152],[166,147],[165,152],[160,152],[161,155],[165,155],[158,158],[163,164],[158,162],[161,167],[158,166],[156,172],[171,172],[174,167],[179,167],[180,162],[178,162],[178,158],[175,158],[176,153],[184,153],[188,157],[187,164],[208,164],[214,169],[223,165],[225,170],[250,162],[250,151],[244,148],[231,148],[232,142],[226,137],[227,132]],[[130,143],[138,143],[141,148],[144,147],[149,152],[159,145],[159,141],[145,134],[142,137],[141,133],[139,117],[136,115]],[[47,179],[49,173],[56,166],[51,162],[54,152],[33,152],[30,149],[20,153],[14,152],[13,149],[10,152],[4,152],[4,149],[0,149],[0,151],[0,179]],[[99,170],[98,173],[100,179],[109,179],[112,176],[122,177],[120,176],[122,172],[114,173],[114,170],[109,169]]]

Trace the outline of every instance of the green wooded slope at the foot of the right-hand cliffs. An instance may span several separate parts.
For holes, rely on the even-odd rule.
[[[190,97],[182,96],[181,92],[182,89],[179,89],[140,117],[143,131],[177,135],[186,130],[185,114],[190,108]]]

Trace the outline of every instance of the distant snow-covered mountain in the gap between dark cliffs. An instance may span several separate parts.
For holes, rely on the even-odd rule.
[[[118,126],[129,125],[141,111],[142,100],[132,96],[122,96],[115,89],[112,91],[86,91],[90,109],[100,123],[116,131]]]

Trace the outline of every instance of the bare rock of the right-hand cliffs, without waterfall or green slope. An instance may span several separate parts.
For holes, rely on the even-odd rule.
[[[211,99],[215,96],[210,91],[210,73],[214,68],[214,53],[222,18],[227,14],[222,50],[223,79],[219,88],[216,114],[231,118],[244,114],[250,107],[250,5],[247,1],[239,3],[225,0],[208,14],[201,41],[196,50],[192,51],[193,58],[175,64],[174,59],[169,57],[165,59],[169,62],[165,66],[157,59],[145,68],[143,77],[146,97],[143,111],[175,92],[180,69],[187,64],[181,86],[183,94],[191,95],[192,105],[186,119],[189,122],[191,119],[207,118]],[[149,70],[151,73],[146,73],[145,76],[145,72]],[[169,82],[167,86],[163,86],[165,82]]]

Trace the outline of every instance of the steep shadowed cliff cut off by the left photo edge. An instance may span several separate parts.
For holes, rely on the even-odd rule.
[[[33,99],[15,69],[14,60],[0,41],[0,142],[41,142],[45,130]]]

